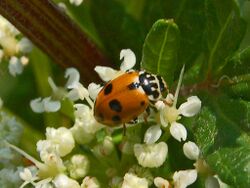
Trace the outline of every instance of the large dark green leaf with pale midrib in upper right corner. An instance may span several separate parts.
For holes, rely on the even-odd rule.
[[[207,65],[206,75],[214,76],[226,64],[226,58],[240,45],[246,23],[234,0],[206,0]],[[236,27],[237,26],[237,27]]]

